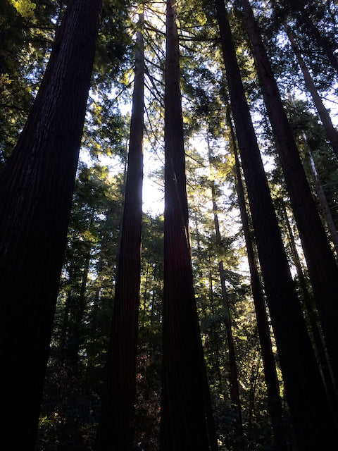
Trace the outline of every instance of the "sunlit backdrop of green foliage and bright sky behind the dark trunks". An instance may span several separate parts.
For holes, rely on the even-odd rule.
[[[68,3],[72,4],[56,0],[1,2],[1,174],[5,173],[38,92],[56,29]],[[259,57],[254,56],[255,47],[248,36],[246,2],[226,4],[287,262],[301,299],[303,319],[325,380],[325,390],[332,401],[331,412],[336,412],[334,363],[330,355],[327,357],[330,345],[323,345],[320,307],[303,254],[281,156],[276,149],[269,107],[263,101],[264,87],[257,68]],[[325,125],[327,116],[332,120],[333,129],[337,124],[337,1],[275,0],[250,4],[308,185],[330,239],[332,254],[337,257],[338,147],[334,133],[330,135]],[[120,251],[137,50],[135,36],[141,29],[140,14],[144,16],[145,65],[144,211],[133,446],[138,450],[156,450],[159,446],[163,375],[166,6],[162,1],[104,2],[36,450],[92,450],[96,436]],[[276,429],[271,420],[267,371],[263,365],[262,338],[258,333],[252,273],[247,260],[248,242],[239,205],[243,175],[236,154],[239,128],[236,118],[232,118],[229,70],[223,61],[219,32],[220,9],[218,6],[217,14],[208,2],[195,0],[178,2],[175,7],[180,39],[194,295],[218,445],[221,450],[302,449],[297,443],[297,426],[292,424],[289,412],[290,400],[284,393],[274,325],[269,310],[264,307],[275,358],[286,447],[277,447]],[[311,82],[315,87],[312,94]],[[318,111],[318,97],[326,106],[326,116],[323,106]],[[249,210],[247,191],[249,187],[244,184],[243,194]],[[259,280],[263,283],[254,238],[257,231],[253,230],[250,218],[249,228]],[[332,300],[337,301],[337,295]],[[325,374],[327,362],[329,376]],[[332,382],[333,391],[325,377]],[[308,393],[310,398],[311,395]],[[336,418],[334,414],[332,417]]]

